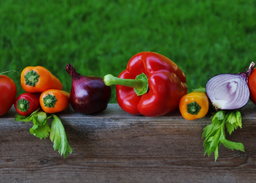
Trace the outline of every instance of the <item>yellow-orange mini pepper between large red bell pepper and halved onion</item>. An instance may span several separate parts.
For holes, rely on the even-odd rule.
[[[209,110],[209,98],[205,92],[191,92],[179,101],[179,111],[187,120],[200,119]]]

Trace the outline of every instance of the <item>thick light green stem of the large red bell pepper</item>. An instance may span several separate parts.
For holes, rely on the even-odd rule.
[[[122,85],[125,87],[133,87],[134,92],[136,92],[137,96],[141,96],[147,93],[148,90],[148,81],[145,73],[139,74],[138,76],[136,76],[135,79],[117,78],[111,74],[107,74],[106,76],[104,76],[103,80],[105,85],[107,86]]]

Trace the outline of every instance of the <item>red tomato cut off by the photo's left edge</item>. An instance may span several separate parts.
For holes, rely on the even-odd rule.
[[[0,116],[6,114],[13,106],[16,94],[15,82],[8,76],[0,75]]]

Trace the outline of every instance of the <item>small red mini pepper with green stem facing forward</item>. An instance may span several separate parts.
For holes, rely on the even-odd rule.
[[[24,93],[20,94],[14,102],[14,107],[22,116],[29,116],[32,112],[40,107],[40,94]]]

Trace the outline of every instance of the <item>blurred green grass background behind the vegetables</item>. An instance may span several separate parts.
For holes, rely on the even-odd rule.
[[[133,55],[154,51],[184,71],[191,92],[256,61],[255,0],[4,0],[0,7],[0,73],[19,71],[7,74],[18,94],[27,66],[46,67],[70,92],[67,63],[84,76],[118,76]]]

